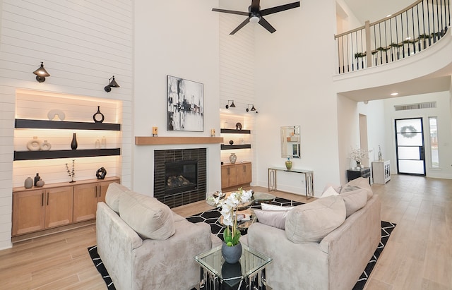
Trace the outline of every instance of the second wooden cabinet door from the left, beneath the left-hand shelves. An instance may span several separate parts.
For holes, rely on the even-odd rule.
[[[64,186],[45,191],[45,227],[62,226],[72,222],[73,188]]]

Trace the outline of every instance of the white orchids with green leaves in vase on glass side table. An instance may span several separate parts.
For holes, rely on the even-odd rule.
[[[217,207],[221,207],[223,224],[226,226],[223,238],[227,246],[236,246],[239,243],[240,231],[237,229],[237,212],[239,205],[248,203],[252,196],[252,191],[239,188],[238,191],[231,193],[227,198],[220,194],[217,197],[212,197],[213,203]]]

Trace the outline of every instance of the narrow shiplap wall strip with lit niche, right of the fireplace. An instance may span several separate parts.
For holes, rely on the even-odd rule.
[[[240,144],[241,139],[244,139],[244,143],[251,143],[251,149],[222,150],[221,161],[229,163],[229,156],[233,152],[237,155],[238,162],[251,161],[253,172],[256,172],[254,124],[258,114],[246,112],[248,104],[254,104],[258,109],[254,98],[255,25],[249,23],[236,34],[230,35],[243,20],[244,16],[220,13],[220,127],[235,128],[237,122],[242,123],[244,129],[251,130],[251,135],[222,134],[222,137],[225,138],[225,144],[229,144],[229,140],[234,140],[234,144]],[[236,107],[226,109],[228,100],[234,100]]]

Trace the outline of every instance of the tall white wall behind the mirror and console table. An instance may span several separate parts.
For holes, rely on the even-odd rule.
[[[268,1],[277,6],[285,1]],[[321,12],[320,12],[321,11]],[[301,126],[301,159],[293,167],[314,170],[314,191],[339,183],[338,115],[332,87],[335,70],[335,2],[301,1],[301,7],[266,20],[270,34],[256,25],[256,104],[259,107],[258,185],[267,186],[268,167],[284,167],[280,126]],[[280,179],[278,179],[279,181]],[[278,182],[297,191],[304,184]]]

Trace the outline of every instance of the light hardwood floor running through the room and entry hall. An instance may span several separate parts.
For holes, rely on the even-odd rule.
[[[372,188],[381,198],[381,219],[397,226],[365,289],[451,290],[452,180],[392,176]],[[198,202],[174,211],[189,216],[210,208]],[[106,289],[88,255],[95,243],[95,226],[14,243],[0,251],[0,289]]]

